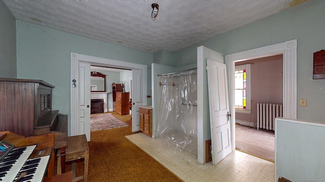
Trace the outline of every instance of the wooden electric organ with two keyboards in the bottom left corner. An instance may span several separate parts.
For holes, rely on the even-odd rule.
[[[3,135],[5,135],[5,137],[3,137]],[[18,178],[20,175],[19,171],[27,169],[27,166],[29,163],[31,163],[32,159],[38,158],[40,158],[41,163],[38,164],[39,167],[36,167],[36,173],[31,174],[33,176],[29,176],[30,174],[28,173],[26,174],[28,177],[31,177],[31,179],[28,179],[28,181],[42,181],[46,171],[48,177],[54,176],[54,133],[29,136],[25,138],[24,136],[14,134],[10,131],[0,131],[0,139],[1,138],[3,138],[3,141],[15,146],[15,149],[13,149],[9,154],[7,154],[8,156],[0,161],[0,168],[2,165],[13,165],[10,167],[9,172],[4,171],[7,172],[7,174],[4,177],[0,177],[1,182],[14,181],[15,178]],[[26,150],[24,150],[19,159],[15,161],[15,164],[4,163],[11,161],[10,157],[16,155],[16,151],[21,150],[21,148],[25,146]],[[5,167],[3,169],[5,170]],[[29,171],[30,170],[34,169],[29,169]]]

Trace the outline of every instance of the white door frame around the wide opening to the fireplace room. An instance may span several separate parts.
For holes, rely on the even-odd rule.
[[[71,84],[72,80],[77,80],[79,74],[79,62],[95,64],[98,66],[114,66],[121,69],[137,69],[142,72],[142,87],[141,87],[141,100],[142,103],[147,104],[147,65],[141,65],[136,63],[129,63],[124,61],[111,60],[106,58],[99,58],[94,56],[81,55],[77,53],[71,53]],[[79,134],[79,90],[78,87],[71,87],[71,119],[70,119],[70,134],[71,136]]]

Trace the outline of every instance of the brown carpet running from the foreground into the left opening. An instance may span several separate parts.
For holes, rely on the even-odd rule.
[[[131,115],[112,115],[128,126],[90,132],[88,181],[182,181],[142,149],[125,138],[132,132]],[[66,165],[67,171],[71,164]],[[76,164],[77,176],[83,161]]]

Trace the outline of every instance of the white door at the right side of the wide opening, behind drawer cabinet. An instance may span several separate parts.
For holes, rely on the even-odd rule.
[[[141,70],[132,70],[132,132],[140,131]]]

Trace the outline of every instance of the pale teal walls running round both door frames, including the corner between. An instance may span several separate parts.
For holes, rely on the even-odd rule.
[[[17,77],[43,79],[55,85],[53,109],[59,109],[62,114],[70,114],[71,52],[146,64],[148,66],[149,95],[151,88],[150,64],[157,62],[170,65],[170,62],[167,61],[169,59],[165,58],[170,58],[171,55],[174,60],[177,60],[175,61],[176,67],[194,65],[197,62],[197,47],[200,45],[227,55],[297,38],[298,99],[307,99],[307,107],[298,107],[298,118],[324,121],[325,81],[312,79],[313,52],[325,49],[324,9],[325,2],[321,0],[307,2],[177,52],[165,53],[162,51],[161,55],[156,55],[157,60],[155,54],[16,21]],[[6,18],[5,20],[7,21]],[[0,33],[1,38],[7,35],[4,35],[4,32]],[[13,67],[15,66],[10,66],[10,68]]]

